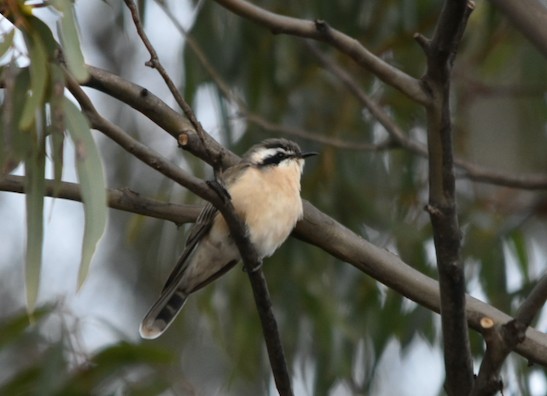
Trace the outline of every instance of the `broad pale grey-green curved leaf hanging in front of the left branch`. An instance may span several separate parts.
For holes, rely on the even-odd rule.
[[[66,127],[76,150],[76,169],[85,212],[82,260],[78,273],[78,287],[81,287],[89,272],[97,243],[106,226],[108,214],[106,183],[99,151],[91,135],[87,119],[67,98],[64,98],[64,109]]]

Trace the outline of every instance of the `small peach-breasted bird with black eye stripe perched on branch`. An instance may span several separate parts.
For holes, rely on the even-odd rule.
[[[317,154],[304,153],[298,144],[287,139],[266,139],[219,176],[261,260],[277,250],[303,217],[300,179],[304,160]],[[190,294],[240,260],[226,221],[207,203],[188,231],[183,252],[159,298],[142,320],[140,336],[155,339],[163,334]]]

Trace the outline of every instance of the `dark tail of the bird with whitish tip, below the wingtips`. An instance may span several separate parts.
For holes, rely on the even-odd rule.
[[[188,294],[182,289],[164,290],[141,322],[141,337],[153,340],[162,335],[184,306],[186,298]]]

